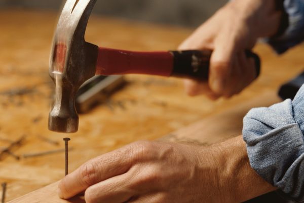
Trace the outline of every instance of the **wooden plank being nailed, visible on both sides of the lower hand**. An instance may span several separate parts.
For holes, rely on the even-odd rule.
[[[181,142],[181,143],[193,143],[199,145],[211,145],[218,143],[222,140],[229,139],[234,136],[239,136],[242,130],[242,120],[244,115],[252,107],[265,106],[267,103],[271,105],[277,101],[276,95],[267,92],[261,95],[259,98],[253,99],[248,103],[237,106],[233,109],[212,115],[198,121],[185,128],[177,130],[176,132],[170,133],[164,137],[163,141]],[[267,106],[268,106],[267,105]],[[69,200],[60,199],[57,196],[58,182],[53,183],[47,187],[36,190],[29,194],[26,194],[18,199],[10,201],[9,203],[23,203],[23,202],[52,202],[52,203],[82,203],[84,202],[83,197],[74,197]],[[47,201],[46,201],[47,200]]]

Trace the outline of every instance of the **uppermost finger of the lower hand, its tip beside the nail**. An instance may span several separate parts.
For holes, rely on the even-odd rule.
[[[70,198],[91,185],[126,173],[132,164],[131,154],[132,148],[126,146],[91,159],[60,181],[59,197]]]

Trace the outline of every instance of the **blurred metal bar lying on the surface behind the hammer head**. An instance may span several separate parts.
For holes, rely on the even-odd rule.
[[[104,103],[116,90],[123,87],[123,76],[94,76],[78,90],[75,107],[78,113],[87,113],[96,105]]]

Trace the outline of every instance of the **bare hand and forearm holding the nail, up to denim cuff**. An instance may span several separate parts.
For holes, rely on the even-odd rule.
[[[85,191],[89,203],[239,202],[274,189],[251,169],[240,136],[210,147],[133,143],[67,175],[59,196]]]

